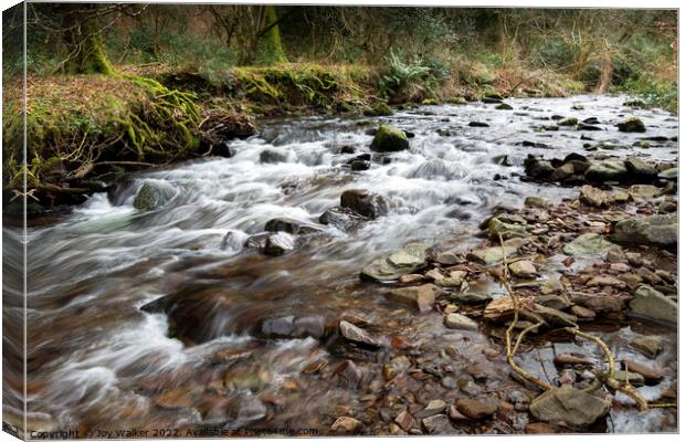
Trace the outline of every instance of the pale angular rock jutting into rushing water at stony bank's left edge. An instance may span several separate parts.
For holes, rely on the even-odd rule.
[[[363,267],[361,278],[375,282],[392,282],[402,275],[414,273],[428,265],[429,246],[421,243],[409,243],[390,256],[379,257]]]

